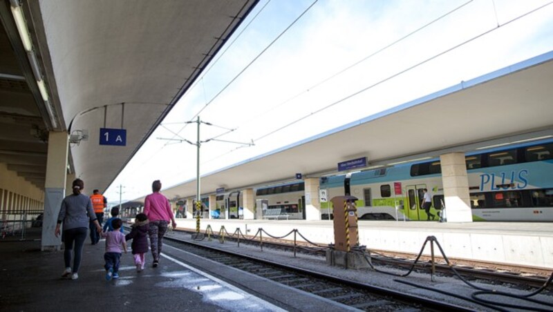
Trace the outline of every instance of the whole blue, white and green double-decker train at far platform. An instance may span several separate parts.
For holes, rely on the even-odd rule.
[[[553,221],[553,140],[479,150],[465,155],[474,221]],[[431,213],[447,216],[440,159],[397,164],[355,173],[321,177],[319,188],[328,199],[357,198],[359,220],[420,220],[423,189],[432,197]],[[255,189],[256,200],[280,208],[290,220],[305,219],[301,181]],[[218,209],[240,218],[241,192],[218,195]],[[221,215],[225,217],[225,215]],[[332,219],[330,202],[321,202],[321,220]]]

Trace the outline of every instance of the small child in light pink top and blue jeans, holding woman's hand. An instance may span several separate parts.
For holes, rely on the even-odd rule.
[[[121,247],[123,252],[126,253],[126,240],[125,235],[119,231],[123,225],[121,219],[114,219],[111,222],[113,231],[102,233],[102,237],[106,238],[106,253],[104,253],[104,260],[106,264],[106,280],[114,280],[119,278],[119,264],[121,259]]]

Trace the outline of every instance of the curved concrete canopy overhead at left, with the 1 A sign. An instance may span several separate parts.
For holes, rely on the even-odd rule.
[[[21,1],[48,101],[10,3],[0,1],[0,162],[44,188],[48,132],[88,134],[70,144],[71,171],[104,190],[257,0]],[[126,146],[99,146],[100,128],[125,128]]]

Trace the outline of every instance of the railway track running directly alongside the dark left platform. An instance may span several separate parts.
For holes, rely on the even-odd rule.
[[[362,311],[472,311],[462,306],[409,295],[378,286],[344,280],[294,266],[223,251],[176,237],[165,236],[165,243],[226,266],[285,284]]]

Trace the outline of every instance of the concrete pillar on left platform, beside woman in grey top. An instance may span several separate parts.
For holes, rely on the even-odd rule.
[[[48,135],[48,160],[44,184],[44,220],[42,222],[41,250],[59,250],[61,235],[55,237],[57,215],[65,197],[68,135],[66,132],[50,132]],[[86,181],[84,182],[86,187]]]

